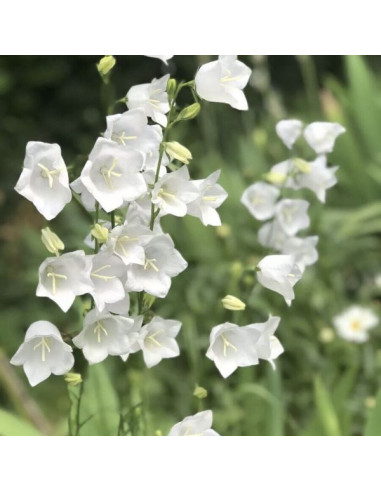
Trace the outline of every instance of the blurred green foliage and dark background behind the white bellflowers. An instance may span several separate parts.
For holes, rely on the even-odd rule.
[[[166,67],[148,57],[118,56],[105,86],[95,66],[99,57],[0,57],[0,434],[67,434],[70,399],[75,402],[79,391],[69,393],[62,377],[30,388],[22,369],[7,362],[33,321],[50,320],[70,335],[80,329],[83,312],[81,300],[64,314],[34,295],[38,266],[46,256],[40,242],[46,222],[13,190],[27,141],[59,143],[71,178],[77,177],[104,130],[110,100],[167,71],[191,80],[209,59],[176,56]],[[90,367],[80,408],[83,435],[166,434],[185,416],[207,408],[222,435],[381,433],[380,327],[359,345],[331,331],[333,316],[351,304],[380,314],[381,58],[242,60],[253,68],[245,90],[250,110],[205,103],[196,120],[172,134],[192,151],[192,177],[221,169],[221,184],[229,193],[220,209],[222,228],[205,228],[192,217],[162,221],[189,262],[168,297],[154,305],[161,316],[182,321],[181,356],[150,370],[141,354],[126,364],[109,357]],[[181,102],[188,102],[184,97]],[[122,112],[125,105],[117,103],[113,110]],[[296,286],[291,308],[255,284],[250,267],[266,251],[257,241],[260,223],[240,204],[243,190],[287,157],[274,130],[282,117],[338,121],[347,129],[330,155],[340,169],[327,203],[318,203],[312,193],[300,194],[312,203],[309,233],[320,237],[320,258]],[[305,146],[298,150],[312,157]],[[67,250],[74,250],[84,247],[91,218],[73,200],[50,227]],[[226,294],[243,299],[246,311],[225,311],[220,299]],[[278,336],[285,353],[277,370],[262,363],[222,379],[204,355],[211,328],[226,320],[263,321],[268,313],[282,318]],[[83,373],[83,358],[77,350],[75,356],[75,370]],[[206,399],[193,396],[196,385],[206,388]]]

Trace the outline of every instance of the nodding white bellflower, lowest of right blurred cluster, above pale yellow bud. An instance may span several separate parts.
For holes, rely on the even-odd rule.
[[[266,289],[278,292],[290,306],[295,298],[293,287],[302,272],[292,255],[269,255],[258,263],[257,278]]]

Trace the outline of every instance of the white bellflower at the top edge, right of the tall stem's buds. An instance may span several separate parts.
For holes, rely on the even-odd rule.
[[[237,60],[236,55],[220,55],[218,60],[200,67],[195,77],[196,91],[206,101],[226,103],[233,108],[247,110],[243,89],[250,75],[250,68]]]

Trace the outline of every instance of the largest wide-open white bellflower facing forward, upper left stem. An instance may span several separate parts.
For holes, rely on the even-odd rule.
[[[81,173],[81,182],[100,206],[111,212],[147,192],[141,174],[144,154],[98,138]]]

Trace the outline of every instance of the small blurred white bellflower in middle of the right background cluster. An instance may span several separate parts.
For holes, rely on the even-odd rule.
[[[310,225],[307,210],[310,204],[306,200],[285,198],[277,203],[275,215],[279,225],[288,236],[294,236],[298,231]]]

